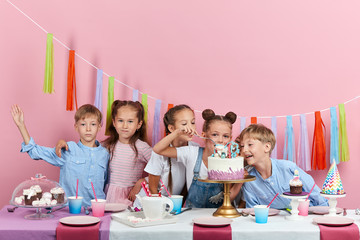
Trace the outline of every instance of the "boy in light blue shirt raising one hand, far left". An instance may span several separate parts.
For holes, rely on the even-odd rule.
[[[67,196],[76,195],[77,179],[79,179],[78,195],[83,197],[83,204],[90,206],[94,199],[91,182],[94,185],[97,198],[105,199],[104,185],[107,179],[109,153],[96,140],[101,128],[101,112],[91,104],[81,106],[75,113],[75,130],[80,141],[67,142],[68,150],[58,157],[55,148],[39,146],[30,137],[24,121],[24,113],[18,105],[11,108],[13,120],[24,140],[21,152],[27,152],[34,160],[44,161],[60,167],[59,184]]]

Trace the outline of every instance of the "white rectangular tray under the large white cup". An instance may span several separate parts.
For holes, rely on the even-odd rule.
[[[177,217],[172,215],[167,215],[162,219],[146,219],[142,211],[114,213],[111,218],[130,227],[149,227],[177,222]]]

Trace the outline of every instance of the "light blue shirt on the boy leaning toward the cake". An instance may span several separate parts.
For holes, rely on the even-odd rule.
[[[252,208],[255,205],[268,205],[276,193],[290,192],[289,182],[294,177],[294,171],[299,171],[300,180],[303,183],[303,191],[310,192],[314,185],[314,179],[304,172],[295,163],[288,160],[271,159],[272,173],[267,179],[263,179],[260,173],[252,168],[249,175],[255,176],[256,180],[245,182],[243,191],[246,207]],[[310,197],[310,206],[328,206],[328,201],[320,196],[320,188],[315,186]],[[271,204],[271,208],[285,209],[289,207],[290,199],[278,196]]]

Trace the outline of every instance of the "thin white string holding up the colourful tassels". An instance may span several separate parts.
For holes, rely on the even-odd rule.
[[[32,23],[34,23],[36,26],[38,26],[41,30],[43,30],[45,33],[48,33],[48,31],[46,31],[42,26],[40,26],[40,24],[38,24],[37,22],[35,22],[31,17],[29,17],[26,13],[24,13],[23,11],[21,11],[21,9],[20,8],[18,8],[15,4],[13,4],[12,2],[10,2],[9,0],[6,0],[8,3],[10,3],[16,10],[18,10],[22,15],[24,15],[27,19],[29,19]],[[66,46],[64,43],[62,43],[59,39],[57,39],[56,37],[54,37],[53,36],[53,39],[55,40],[55,41],[57,41],[58,43],[60,43],[64,48],[66,48],[67,50],[70,50],[70,48],[68,47],[68,46]],[[79,55],[79,54],[77,54],[77,53],[75,53],[75,55],[77,56],[77,57],[79,57],[80,59],[82,59],[84,62],[86,62],[87,64],[89,64],[90,66],[92,66],[93,68],[95,68],[95,69],[99,69],[98,67],[96,67],[94,64],[92,64],[91,62],[89,62],[88,60],[86,60],[85,58],[83,58],[81,55]],[[105,76],[107,76],[107,77],[111,77],[108,73],[106,73],[106,72],[103,72],[103,74],[105,75]],[[125,87],[127,87],[127,88],[130,88],[130,89],[132,89],[132,90],[134,90],[135,88],[133,88],[133,87],[131,87],[130,85],[127,85],[127,84],[125,84],[124,82],[121,82],[120,80],[118,80],[118,79],[116,79],[116,78],[114,78],[114,80],[116,81],[116,82],[118,82],[118,83],[120,83],[120,84],[122,84],[123,86],[125,86]],[[140,94],[144,94],[143,92],[141,92],[141,91],[139,91],[139,93]],[[148,98],[151,98],[151,99],[153,99],[153,100],[157,100],[157,98],[155,98],[155,97],[152,97],[152,96],[150,96],[150,95],[148,95]],[[354,98],[352,98],[352,99],[350,99],[350,100],[348,100],[348,101],[346,101],[346,102],[344,102],[344,104],[348,104],[348,103],[350,103],[350,102],[352,102],[352,101],[355,101],[356,99],[358,99],[358,98],[360,98],[360,96],[356,96],[356,97],[354,97]],[[325,109],[322,109],[322,110],[320,110],[320,112],[325,112],[325,111],[328,111],[328,110],[330,110],[330,108],[325,108]],[[198,113],[202,113],[202,111],[200,111],[200,110],[194,110],[194,112],[198,112]],[[304,113],[305,115],[310,115],[310,114],[314,114],[314,112],[307,112],[307,113]],[[297,114],[293,114],[293,115],[291,115],[291,116],[293,116],[293,117],[296,117],[296,116],[300,116],[301,114],[299,114],[299,113],[297,113]],[[246,117],[246,118],[249,118],[249,117],[247,117],[247,116],[244,116],[244,117]],[[284,118],[284,117],[287,117],[286,115],[282,115],[282,116],[276,116],[277,118]],[[263,116],[263,117],[257,117],[258,119],[268,119],[268,118],[272,118],[272,116]]]

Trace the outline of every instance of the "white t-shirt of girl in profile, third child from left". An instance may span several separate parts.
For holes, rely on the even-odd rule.
[[[189,142],[189,146],[199,146],[195,142]],[[171,174],[173,180],[173,189],[172,193],[178,195],[181,193],[184,185],[185,185],[185,166],[183,163],[176,161],[176,158],[171,158]],[[156,154],[154,151],[151,153],[151,157],[149,162],[145,167],[145,172],[160,176],[164,185],[168,188],[169,186],[169,171],[170,164],[167,157]],[[160,184],[160,183],[159,183]],[[161,184],[160,184],[161,185]],[[160,187],[159,185],[159,187]],[[163,189],[161,194],[167,196],[166,190]]]

